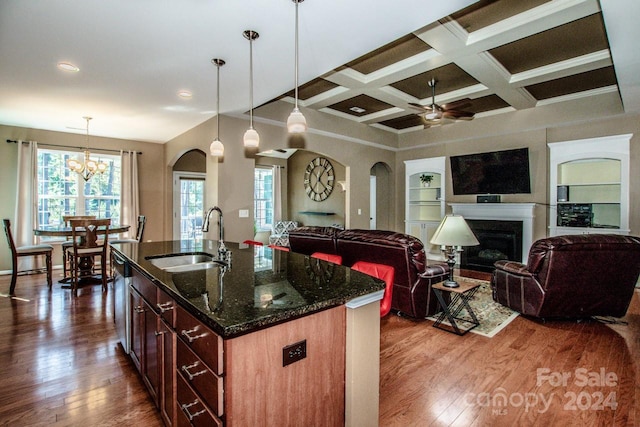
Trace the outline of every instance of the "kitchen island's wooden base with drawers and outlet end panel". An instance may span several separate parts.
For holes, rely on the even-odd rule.
[[[135,268],[129,297],[130,355],[166,425],[344,425],[345,306],[223,340]]]

